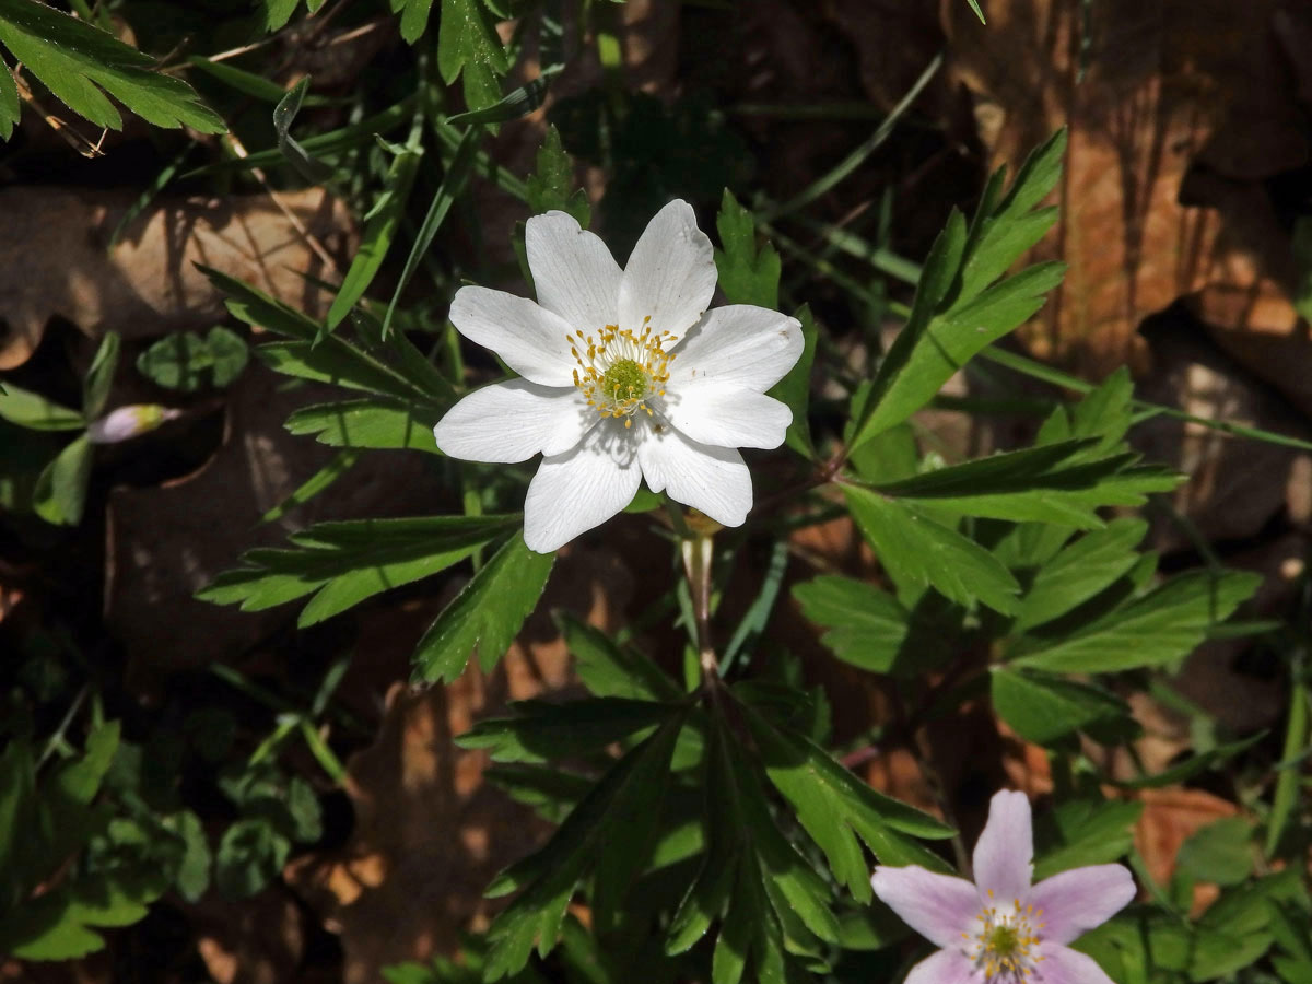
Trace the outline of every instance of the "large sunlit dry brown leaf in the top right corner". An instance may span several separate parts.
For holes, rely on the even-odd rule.
[[[1036,251],[1071,266],[1042,331],[1026,336],[1039,354],[1105,371],[1131,361],[1144,315],[1182,295],[1266,297],[1267,282],[1279,282],[1287,298],[1283,270],[1263,261],[1287,243],[1245,228],[1270,224],[1253,182],[1308,156],[1273,30],[1286,8],[1110,0],[1086,7],[1085,31],[1078,4],[994,0],[985,28],[966,4],[945,0],[950,71],[976,100],[994,163],[1014,167],[1059,126],[1071,127],[1061,219]],[[1077,81],[1085,38],[1088,73]],[[1183,203],[1191,169],[1239,182],[1245,203],[1197,189]],[[1239,318],[1235,327],[1249,324]]]

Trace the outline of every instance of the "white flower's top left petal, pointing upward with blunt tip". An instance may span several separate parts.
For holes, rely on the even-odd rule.
[[[606,244],[572,215],[534,215],[523,231],[538,303],[585,333],[615,324],[625,272]]]

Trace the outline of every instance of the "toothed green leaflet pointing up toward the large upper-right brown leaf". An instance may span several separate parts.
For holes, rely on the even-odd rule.
[[[994,174],[970,230],[959,213],[935,240],[912,304],[911,318],[879,366],[863,417],[849,450],[907,420],[980,349],[1026,321],[1061,282],[1061,264],[1038,264],[998,277],[1056,220],[1055,209],[1030,210],[1056,184],[1065,131],[1026,160],[1001,201]],[[993,286],[988,286],[993,283]]]

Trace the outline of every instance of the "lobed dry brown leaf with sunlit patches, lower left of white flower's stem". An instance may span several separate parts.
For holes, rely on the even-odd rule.
[[[617,554],[575,544],[491,674],[475,663],[445,687],[391,685],[378,739],[348,764],[346,791],[356,807],[350,840],[341,850],[299,858],[285,872],[341,935],[346,984],[373,984],[391,963],[450,954],[461,930],[487,925],[484,888],[550,828],[484,783],[487,754],[458,749],[453,737],[504,712],[508,701],[569,687],[569,653],[547,613],[564,607],[613,626],[631,581]],[[353,661],[342,686],[348,703],[377,687],[388,669],[394,680],[407,672],[417,635],[441,602],[362,617],[361,638],[377,644],[369,660]],[[395,631],[398,619],[408,631]]]

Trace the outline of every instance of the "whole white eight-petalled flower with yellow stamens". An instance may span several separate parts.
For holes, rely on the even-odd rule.
[[[628,265],[569,215],[529,219],[538,302],[462,287],[451,323],[520,379],[476,390],[433,429],[453,458],[542,466],[523,541],[542,554],[653,492],[726,526],[752,508],[739,447],[778,447],[792,412],[765,391],[802,356],[802,325],[750,304],[707,311],[711,243],[687,202],[648,223]]]

